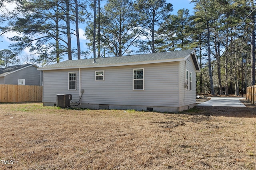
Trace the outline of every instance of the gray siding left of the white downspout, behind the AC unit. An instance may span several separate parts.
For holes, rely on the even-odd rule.
[[[76,72],[76,90],[68,90],[68,72]],[[72,102],[79,100],[78,69],[44,71],[43,102],[56,103],[57,94],[72,94]]]

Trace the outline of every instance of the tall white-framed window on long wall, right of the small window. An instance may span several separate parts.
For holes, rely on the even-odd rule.
[[[133,69],[133,90],[144,90],[144,68]]]

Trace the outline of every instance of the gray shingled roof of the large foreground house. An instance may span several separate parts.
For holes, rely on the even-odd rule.
[[[171,52],[164,52],[164,53],[141,54],[141,55],[127,55],[127,56],[120,56],[120,57],[106,57],[106,58],[96,58],[96,59],[68,60],[68,61],[63,61],[60,63],[40,67],[38,68],[38,70],[96,68],[96,67],[106,67],[106,66],[125,66],[125,65],[138,65],[138,64],[166,63],[166,62],[172,62],[172,61],[185,61],[190,55],[192,55],[194,64],[196,66],[196,70],[200,70],[194,50],[171,51]]]

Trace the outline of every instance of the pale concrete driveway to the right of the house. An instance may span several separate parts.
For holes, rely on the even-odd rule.
[[[209,97],[211,100],[198,104],[197,106],[228,106],[228,107],[246,107],[240,99],[236,97]]]

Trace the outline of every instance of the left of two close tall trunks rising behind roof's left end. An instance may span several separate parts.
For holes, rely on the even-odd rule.
[[[68,37],[68,60],[72,60],[72,51],[71,51],[71,33],[70,33],[70,14],[69,14],[69,0],[66,2],[66,25],[67,25],[67,37]]]

